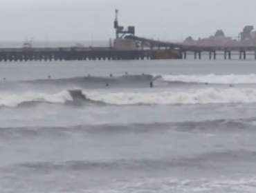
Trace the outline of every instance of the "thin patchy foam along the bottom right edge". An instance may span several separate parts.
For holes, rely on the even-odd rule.
[[[133,179],[113,181],[91,192],[255,192],[255,176],[248,179]]]

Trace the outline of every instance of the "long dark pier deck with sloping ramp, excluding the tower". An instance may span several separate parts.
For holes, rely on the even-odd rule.
[[[139,48],[120,50],[114,47],[66,47],[66,48],[0,48],[0,61],[73,61],[73,60],[136,60],[136,59],[186,59],[187,54],[194,54],[194,59],[201,59],[207,52],[209,59],[216,59],[222,52],[224,59],[231,59],[239,54],[239,59],[246,59],[246,52],[253,52],[256,59],[256,45],[188,45],[157,41],[128,35],[125,39],[136,41]],[[235,53],[236,52],[236,53]],[[250,53],[251,54],[251,53]]]

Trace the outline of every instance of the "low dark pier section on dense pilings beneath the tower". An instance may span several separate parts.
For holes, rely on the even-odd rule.
[[[115,50],[112,48],[6,48],[0,49],[0,61],[82,61],[182,59],[173,50]]]

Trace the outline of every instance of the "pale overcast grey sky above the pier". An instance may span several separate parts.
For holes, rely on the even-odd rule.
[[[178,40],[208,37],[217,29],[232,37],[254,25],[254,0],[1,0],[0,41],[86,41],[114,36],[120,24],[143,37]]]

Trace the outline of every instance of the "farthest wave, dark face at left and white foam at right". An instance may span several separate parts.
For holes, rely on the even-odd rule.
[[[37,79],[30,81],[21,81],[18,84],[15,82],[10,83],[6,81],[1,83],[1,88],[17,89],[21,85],[35,86],[77,86],[79,88],[144,88],[149,87],[151,81],[155,82],[158,87],[162,84],[177,85],[181,87],[186,84],[252,84],[256,83],[256,74],[206,74],[206,75],[185,75],[185,74],[125,74],[122,76],[113,77],[73,77],[66,79]]]

